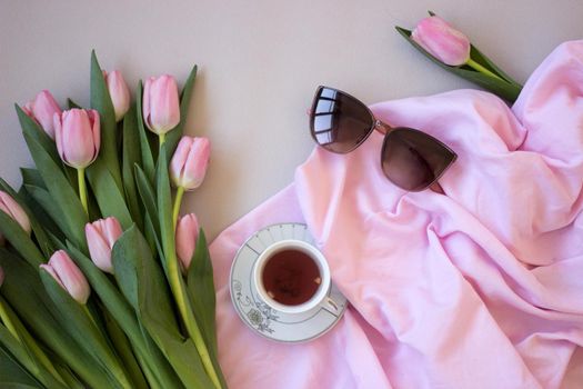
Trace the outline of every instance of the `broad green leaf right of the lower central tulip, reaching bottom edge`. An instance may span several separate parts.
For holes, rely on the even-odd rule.
[[[132,227],[112,250],[115,278],[141,322],[168,358],[187,388],[210,388],[194,343],[184,340],[171,309],[172,300],[164,276],[148,242]]]

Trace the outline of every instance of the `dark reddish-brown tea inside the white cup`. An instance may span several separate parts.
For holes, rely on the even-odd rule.
[[[285,306],[298,306],[312,298],[322,278],[318,265],[298,250],[282,250],[265,263],[263,287],[273,300]]]

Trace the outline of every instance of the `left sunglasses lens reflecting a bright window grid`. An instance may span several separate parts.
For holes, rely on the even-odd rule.
[[[366,106],[335,89],[321,87],[312,106],[310,127],[318,144],[333,152],[354,150],[372,131]]]

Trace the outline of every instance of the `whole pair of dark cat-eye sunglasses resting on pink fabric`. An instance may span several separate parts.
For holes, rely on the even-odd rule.
[[[314,141],[335,153],[358,148],[373,130],[385,133],[381,168],[401,189],[418,192],[428,188],[443,192],[439,178],[458,156],[432,136],[406,127],[392,128],[374,118],[360,100],[341,90],[318,87],[310,111]]]

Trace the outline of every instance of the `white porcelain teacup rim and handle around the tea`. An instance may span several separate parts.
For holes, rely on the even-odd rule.
[[[263,286],[263,271],[265,269],[265,265],[271,258],[273,258],[274,255],[287,250],[300,251],[310,257],[318,266],[321,279],[319,288],[308,301],[293,306],[283,305],[279,301],[275,301],[270,297],[265,290],[265,287]],[[259,295],[259,298],[272,309],[284,313],[305,313],[319,310],[321,308],[324,308],[334,315],[340,313],[338,303],[335,303],[328,296],[330,292],[331,282],[330,268],[328,267],[324,256],[315,247],[302,240],[281,240],[269,246],[259,256],[253,267],[253,286]]]

